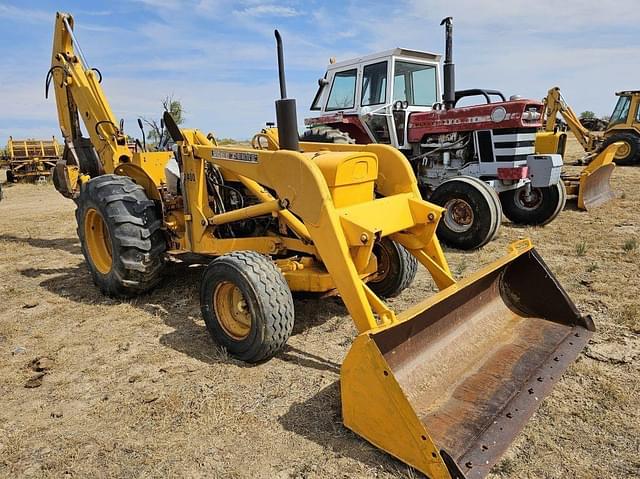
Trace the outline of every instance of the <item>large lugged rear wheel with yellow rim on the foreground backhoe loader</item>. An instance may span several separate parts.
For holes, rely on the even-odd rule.
[[[104,294],[127,298],[160,282],[166,249],[162,220],[131,178],[102,175],[82,185],[76,220],[82,254]]]

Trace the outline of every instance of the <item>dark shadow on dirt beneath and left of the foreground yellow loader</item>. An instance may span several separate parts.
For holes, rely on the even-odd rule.
[[[40,239],[0,236],[0,240],[29,244],[36,247],[58,249],[80,256],[77,238]],[[204,265],[197,263],[170,263],[162,284],[152,292],[129,300],[109,298],[93,285],[84,263],[64,268],[31,267],[20,270],[23,276],[40,280],[39,286],[60,297],[83,304],[116,305],[126,302],[141,311],[160,317],[173,331],[163,335],[160,343],[199,361],[247,366],[230,358],[209,336],[200,314],[198,298],[200,277]],[[322,301],[322,307],[320,306]],[[294,299],[296,322],[293,335],[325,323],[328,319],[346,315],[347,311],[337,297],[319,299],[303,296]],[[318,370],[339,372],[340,365],[320,356],[287,346],[280,359]]]

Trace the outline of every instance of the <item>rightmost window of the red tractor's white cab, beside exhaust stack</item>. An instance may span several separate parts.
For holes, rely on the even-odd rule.
[[[393,101],[414,106],[431,106],[437,101],[436,68],[411,62],[396,62]]]

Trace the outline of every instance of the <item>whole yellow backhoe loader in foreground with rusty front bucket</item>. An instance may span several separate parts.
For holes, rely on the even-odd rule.
[[[207,328],[249,362],[286,344],[292,293],[337,292],[358,332],[341,370],[344,424],[431,479],[484,477],[593,322],[527,240],[456,282],[435,235],[444,210],[422,200],[399,151],[300,144],[276,39],[277,135],[222,147],[165,113],[175,157],[132,153],[73,18],[57,14],[49,76],[66,154],[56,186],[76,202],[92,278],[134,296],[158,283],[167,257],[209,256]],[[418,263],[441,291],[396,314],[384,299],[410,286]]]

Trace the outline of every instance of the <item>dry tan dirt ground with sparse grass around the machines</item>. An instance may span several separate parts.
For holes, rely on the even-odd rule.
[[[613,184],[621,197],[593,212],[570,204],[544,228],[504,223],[481,251],[447,251],[462,277],[531,237],[598,328],[493,478],[640,477],[640,168]],[[0,476],[420,477],[342,426],[355,329],[339,299],[297,299],[286,350],[247,366],[207,334],[200,266],[132,301],[100,295],[73,211],[50,185],[0,202]],[[420,271],[391,304],[433,291]]]

